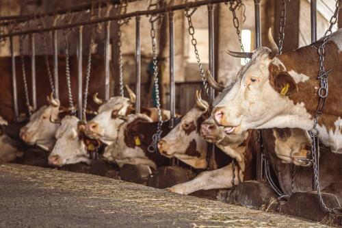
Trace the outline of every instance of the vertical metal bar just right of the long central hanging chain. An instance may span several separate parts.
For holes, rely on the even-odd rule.
[[[174,128],[176,116],[176,93],[174,91],[174,12],[169,12],[169,49],[170,49],[170,129]]]

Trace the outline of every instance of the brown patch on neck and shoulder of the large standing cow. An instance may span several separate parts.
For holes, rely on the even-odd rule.
[[[319,47],[321,41],[313,43],[315,47]],[[294,92],[289,99],[293,103],[304,103],[308,113],[313,116],[318,105],[318,90],[319,80],[317,75],[319,72],[319,56],[317,49],[312,46],[302,47],[295,51],[290,51],[282,55],[278,55],[280,61],[286,66],[287,71],[295,71],[302,73],[309,77],[307,81],[299,82],[297,84],[298,92]],[[339,51],[337,45],[328,41],[325,49],[324,67],[326,70],[332,70],[329,74],[329,94],[326,99],[323,114],[318,119],[319,125],[324,125],[328,131],[335,131],[334,122],[339,116],[342,116],[342,102],[341,102],[341,64],[342,53]]]

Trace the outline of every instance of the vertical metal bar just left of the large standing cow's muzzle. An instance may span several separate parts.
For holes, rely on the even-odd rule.
[[[208,5],[208,29],[209,29],[209,71],[213,77],[216,77],[215,73],[215,26],[214,26],[214,5]],[[209,89],[209,103],[213,103],[215,99],[215,90]],[[215,164],[215,144],[209,144],[209,169],[213,169]]]

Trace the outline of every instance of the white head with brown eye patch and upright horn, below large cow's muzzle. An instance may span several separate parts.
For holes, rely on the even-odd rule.
[[[159,152],[166,157],[177,157],[194,168],[207,168],[208,145],[200,136],[200,124],[205,120],[208,110],[208,103],[196,91],[196,105],[158,142]]]

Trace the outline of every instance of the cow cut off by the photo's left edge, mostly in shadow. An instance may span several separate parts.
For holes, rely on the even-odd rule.
[[[18,150],[16,142],[5,135],[5,126],[8,122],[0,116],[0,163],[12,162],[16,157],[23,156],[23,152]]]

